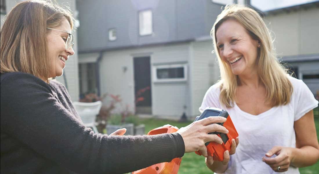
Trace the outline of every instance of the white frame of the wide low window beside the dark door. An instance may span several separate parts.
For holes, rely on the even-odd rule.
[[[167,78],[167,79],[158,79],[157,78],[157,69],[162,68],[184,68],[184,78]],[[153,82],[180,82],[187,81],[187,64],[167,64],[167,65],[153,65],[152,67],[152,79]]]

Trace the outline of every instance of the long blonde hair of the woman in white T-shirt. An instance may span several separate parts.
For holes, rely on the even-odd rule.
[[[217,16],[214,26],[211,29],[214,49],[218,57],[221,79],[219,100],[226,107],[233,107],[236,98],[236,89],[239,84],[237,75],[232,73],[230,66],[221,60],[217,48],[216,31],[226,20],[234,19],[239,22],[254,40],[260,41],[258,49],[257,66],[258,75],[266,87],[266,101],[272,107],[286,105],[291,100],[293,91],[287,72],[279,63],[272,43],[270,31],[260,15],[253,9],[243,5],[226,5],[225,9]]]

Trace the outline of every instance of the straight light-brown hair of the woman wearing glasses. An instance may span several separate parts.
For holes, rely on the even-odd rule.
[[[47,27],[59,26],[63,19],[72,29],[70,12],[56,4],[38,0],[17,4],[0,31],[0,72],[26,72],[48,82]]]

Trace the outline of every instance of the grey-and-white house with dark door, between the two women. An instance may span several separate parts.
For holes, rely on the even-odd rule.
[[[219,78],[209,33],[220,8],[209,0],[77,1],[80,92],[120,95],[137,114],[198,115]]]

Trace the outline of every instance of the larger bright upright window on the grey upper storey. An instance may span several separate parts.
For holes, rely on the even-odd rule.
[[[144,10],[138,13],[139,34],[141,36],[153,33],[152,11]]]

